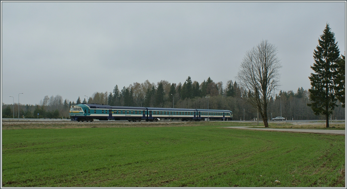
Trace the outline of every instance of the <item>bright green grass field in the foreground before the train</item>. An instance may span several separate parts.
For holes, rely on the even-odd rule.
[[[344,187],[344,175],[343,135],[215,125],[2,130],[3,187]]]

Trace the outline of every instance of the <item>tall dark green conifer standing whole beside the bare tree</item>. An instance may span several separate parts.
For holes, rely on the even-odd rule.
[[[319,45],[314,50],[314,64],[311,66],[315,73],[311,73],[310,98],[308,103],[316,115],[325,115],[326,127],[329,127],[329,116],[335,109],[336,98],[334,94],[335,84],[333,81],[334,69],[339,61],[340,51],[335,43],[335,34],[331,32],[329,24],[326,25],[323,35],[318,39]]]

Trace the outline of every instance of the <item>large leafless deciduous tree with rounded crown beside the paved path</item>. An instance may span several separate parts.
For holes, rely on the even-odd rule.
[[[279,86],[281,68],[277,47],[267,40],[246,52],[236,79],[249,91],[247,102],[260,113],[265,127],[268,126],[267,106],[274,90]]]

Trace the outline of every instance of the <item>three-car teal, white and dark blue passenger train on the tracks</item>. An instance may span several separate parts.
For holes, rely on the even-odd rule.
[[[70,107],[71,121],[128,120],[156,121],[159,119],[180,119],[182,121],[232,120],[230,110],[147,108],[109,106],[96,103],[81,103]]]

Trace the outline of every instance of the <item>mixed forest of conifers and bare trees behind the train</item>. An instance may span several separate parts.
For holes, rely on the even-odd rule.
[[[171,95],[172,94],[172,95]],[[209,96],[210,98],[205,98]],[[20,105],[19,117],[22,118],[67,118],[69,107],[80,102],[108,104],[110,106],[136,106],[161,108],[199,108],[225,109],[233,112],[234,120],[254,120],[257,112],[245,102],[248,92],[243,90],[236,81],[229,80],[225,86],[222,82],[215,83],[210,77],[199,83],[188,77],[182,83],[169,83],[162,80],[151,83],[133,83],[119,90],[116,85],[111,92],[95,92],[89,99],[77,98],[76,102],[69,101],[59,95],[45,96],[38,105]],[[173,104],[174,101],[174,104]],[[268,105],[269,119],[277,116],[287,119],[324,119],[314,114],[307,106],[310,103],[309,93],[302,87],[297,91],[280,91],[270,99]],[[338,102],[339,103],[339,102]],[[15,103],[15,118],[18,118],[18,104]],[[13,117],[13,105],[2,105],[2,117]],[[272,117],[271,117],[272,116]],[[259,117],[259,119],[261,119]],[[345,108],[335,108],[331,119],[345,119]]]

